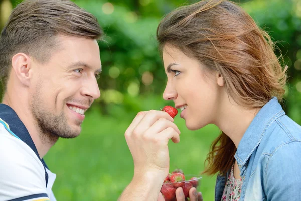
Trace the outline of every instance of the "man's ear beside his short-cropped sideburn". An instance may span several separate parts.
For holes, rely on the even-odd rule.
[[[24,53],[15,54],[12,58],[13,70],[19,81],[26,86],[30,84],[31,64],[31,58]]]

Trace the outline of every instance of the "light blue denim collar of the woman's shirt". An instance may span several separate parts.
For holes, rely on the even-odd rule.
[[[234,156],[240,169],[246,164],[254,150],[260,144],[266,129],[268,129],[276,118],[284,114],[285,112],[276,97],[269,100],[269,102],[259,110],[240,140]]]

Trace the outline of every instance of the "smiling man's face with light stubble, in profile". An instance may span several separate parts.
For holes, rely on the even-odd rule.
[[[74,138],[84,112],[100,97],[96,77],[101,70],[96,40],[59,36],[50,60],[33,63],[30,108],[42,133]]]

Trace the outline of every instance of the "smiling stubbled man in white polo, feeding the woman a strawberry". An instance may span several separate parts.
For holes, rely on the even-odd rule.
[[[96,18],[69,0],[25,0],[12,11],[0,37],[0,78],[4,86],[0,104],[0,201],[56,200],[51,190],[56,175],[43,157],[58,138],[80,134],[85,111],[100,96],[97,40],[102,35]],[[143,126],[142,117],[156,119],[158,115],[168,123],[173,121],[162,111],[139,113],[126,133],[127,141],[130,143],[138,125]],[[174,125],[167,126],[177,130]],[[179,138],[176,130],[175,142]],[[163,136],[162,142],[172,137]],[[156,146],[145,150],[150,152]],[[158,146],[165,154],[157,158],[169,163],[166,146]],[[157,176],[166,168],[156,170],[157,161],[146,162],[154,158],[154,153],[145,158],[138,148],[130,149],[134,161],[138,161],[136,174],[120,200],[157,200],[163,183]],[[152,181],[145,183],[149,176]]]

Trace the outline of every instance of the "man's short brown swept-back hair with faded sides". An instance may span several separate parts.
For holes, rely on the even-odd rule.
[[[0,36],[0,78],[6,90],[12,57],[25,53],[40,63],[49,60],[57,36],[100,39],[97,19],[69,0],[25,0],[12,11]]]

